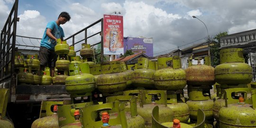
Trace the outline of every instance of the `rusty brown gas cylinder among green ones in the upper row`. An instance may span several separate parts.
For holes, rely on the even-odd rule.
[[[200,59],[198,59],[197,65],[189,66],[185,71],[188,85],[201,86],[213,85],[215,83],[214,68],[200,64]]]

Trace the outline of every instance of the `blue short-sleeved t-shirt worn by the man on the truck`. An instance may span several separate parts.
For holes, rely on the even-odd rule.
[[[64,37],[64,31],[63,31],[62,27],[58,26],[55,21],[50,21],[46,25],[46,29],[47,28],[52,29],[51,33],[53,34],[54,37],[56,37],[56,38]],[[57,42],[55,40],[51,39],[50,37],[48,37],[46,35],[46,30],[45,30],[43,38],[41,40],[41,46],[54,51],[54,47],[56,46],[56,43]]]

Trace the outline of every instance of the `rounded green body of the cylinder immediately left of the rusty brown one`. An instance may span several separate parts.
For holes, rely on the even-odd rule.
[[[186,72],[171,67],[159,69],[154,73],[155,88],[159,90],[178,90],[186,86]]]

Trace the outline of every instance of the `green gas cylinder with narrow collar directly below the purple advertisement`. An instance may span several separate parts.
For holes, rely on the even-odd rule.
[[[147,58],[138,58],[137,69],[132,73],[132,85],[145,89],[155,89],[154,73],[155,70],[148,69]]]

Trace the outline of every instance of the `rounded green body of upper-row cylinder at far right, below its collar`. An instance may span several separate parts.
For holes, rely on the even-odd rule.
[[[219,64],[214,76],[219,84],[247,84],[252,81],[252,67],[245,63]]]

